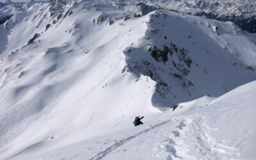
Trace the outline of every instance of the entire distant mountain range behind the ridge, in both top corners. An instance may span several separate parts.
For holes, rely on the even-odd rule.
[[[177,12],[198,15],[209,19],[221,21],[231,21],[237,24],[245,31],[256,33],[256,1],[209,1],[209,0],[95,0],[102,4],[111,4],[116,8],[126,8],[129,11],[136,12],[138,15],[164,8],[175,10]],[[5,3],[0,2],[0,24],[10,19],[13,14],[28,9],[35,3],[45,3],[47,1],[28,1],[26,3],[13,3],[8,0]],[[67,0],[70,2],[70,0]]]

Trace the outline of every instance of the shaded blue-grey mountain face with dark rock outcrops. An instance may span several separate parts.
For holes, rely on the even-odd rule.
[[[231,22],[164,11],[148,16],[144,43],[125,55],[127,70],[157,82],[153,104],[218,96],[246,83],[241,77],[255,79],[255,44]]]

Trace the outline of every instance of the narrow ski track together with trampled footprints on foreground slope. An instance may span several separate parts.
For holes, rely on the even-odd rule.
[[[169,131],[169,133],[171,134],[169,135],[168,140],[164,140],[164,143],[160,145],[160,148],[162,150],[164,148],[165,152],[168,153],[166,160],[201,158],[225,159],[227,157],[234,158],[239,156],[239,154],[232,154],[234,152],[237,153],[236,148],[227,147],[221,143],[217,143],[214,138],[211,138],[210,132],[214,129],[210,129],[205,124],[204,117],[192,116],[186,118],[174,117],[168,120],[164,120],[159,124],[150,125],[147,129],[144,129],[143,131],[140,131],[132,136],[128,136],[127,138],[119,140],[113,145],[106,147],[104,150],[98,152],[97,154],[95,154],[95,156],[90,158],[90,160],[104,159],[104,157],[115,151],[116,148],[122,147],[123,145],[130,143],[136,138],[143,138],[141,137],[143,134],[152,134],[153,132],[150,131],[152,131],[153,129],[157,129],[159,127],[166,127],[166,125],[171,126]],[[191,150],[191,148],[196,148],[196,156],[189,156],[189,150]]]

